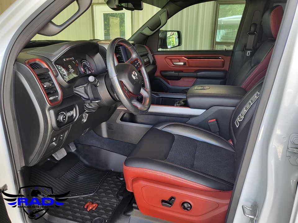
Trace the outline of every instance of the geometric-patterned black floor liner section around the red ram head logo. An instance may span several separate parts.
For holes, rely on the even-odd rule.
[[[118,191],[123,188],[124,180],[117,176],[119,173],[111,172],[93,195],[77,198],[69,198],[60,208],[50,208],[48,214],[69,221],[79,223],[91,223],[95,218],[103,218],[107,222],[113,211],[120,203]],[[87,211],[84,205],[87,202],[97,203],[95,210]],[[50,219],[49,219],[50,220]]]

